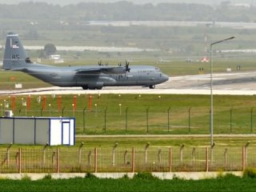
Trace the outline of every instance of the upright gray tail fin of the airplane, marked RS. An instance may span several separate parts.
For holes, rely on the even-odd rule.
[[[7,34],[2,69],[12,70],[15,68],[22,68],[30,65],[30,63],[30,58],[28,58],[26,51],[22,46],[22,42],[18,38],[18,34]]]

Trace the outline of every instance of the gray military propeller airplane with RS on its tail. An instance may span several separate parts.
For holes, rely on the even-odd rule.
[[[82,86],[82,89],[100,90],[103,86],[148,86],[166,82],[169,77],[154,66],[49,66],[32,63],[18,38],[9,33],[6,37],[4,70],[17,70],[30,74],[54,86]]]

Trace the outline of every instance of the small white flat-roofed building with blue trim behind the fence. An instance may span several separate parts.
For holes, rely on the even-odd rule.
[[[0,118],[0,144],[74,146],[74,136],[74,118]]]

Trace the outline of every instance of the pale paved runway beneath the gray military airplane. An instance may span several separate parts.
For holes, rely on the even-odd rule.
[[[213,74],[213,94],[256,95],[256,71]],[[82,90],[80,87],[46,87],[27,90],[0,90],[13,94],[210,94],[210,74],[170,77],[155,89],[141,86],[103,87],[102,90]]]

